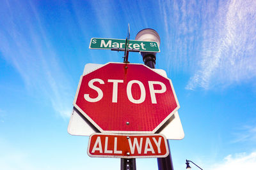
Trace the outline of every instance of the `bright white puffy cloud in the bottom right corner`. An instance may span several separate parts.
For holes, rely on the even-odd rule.
[[[239,153],[228,155],[221,162],[211,164],[207,169],[211,170],[240,170],[240,169],[253,169],[256,167],[256,152],[252,153]]]

